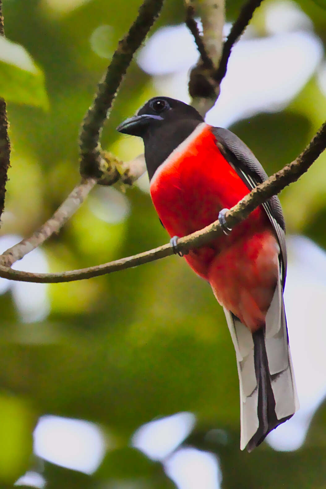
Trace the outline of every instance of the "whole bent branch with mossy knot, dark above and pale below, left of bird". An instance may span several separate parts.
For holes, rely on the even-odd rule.
[[[101,150],[99,137],[101,128],[107,117],[107,112],[112,106],[116,91],[126,69],[130,65],[135,51],[138,49],[150,27],[158,17],[162,4],[163,0],[145,0],[142,3],[136,21],[129,29],[128,34],[119,42],[113,55],[112,62],[102,81],[98,85],[93,105],[90,107],[84,118],[80,133],[81,173],[84,175],[81,183],[72,190],[68,198],[60,205],[53,216],[41,226],[41,228],[35,231],[29,238],[23,239],[20,243],[7,249],[0,256],[0,264],[2,266],[11,267],[17,260],[21,260],[27,253],[43,244],[52,234],[57,233],[77,211],[96,183],[112,185],[117,180],[121,180],[122,183],[131,185],[144,173],[146,167],[143,155],[140,155],[127,163],[118,161],[110,153]],[[2,126],[0,126],[0,138],[1,127]]]

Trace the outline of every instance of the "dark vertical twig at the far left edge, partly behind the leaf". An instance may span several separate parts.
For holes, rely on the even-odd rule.
[[[2,1],[0,0],[0,36],[4,36]],[[4,209],[7,172],[10,166],[10,141],[8,137],[8,119],[6,103],[0,97],[0,218]]]

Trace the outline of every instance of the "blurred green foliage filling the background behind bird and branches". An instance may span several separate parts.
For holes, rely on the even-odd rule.
[[[8,102],[13,152],[3,235],[29,235],[78,181],[79,125],[108,63],[103,51],[97,51],[101,56],[94,52],[92,42],[104,32],[109,58],[139,3],[91,0],[74,7],[59,0],[4,2],[11,40],[6,46],[22,45],[18,49],[30,69],[7,58],[4,62],[4,46],[0,94]],[[241,4],[228,2],[228,20]],[[325,37],[323,9],[310,0],[298,4]],[[158,25],[182,19],[182,2],[169,0]],[[101,26],[109,29],[93,36]],[[263,35],[263,22],[260,28]],[[133,63],[104,129],[105,149],[125,159],[142,151],[140,141],[121,138],[114,128],[155,93],[150,77]],[[47,96],[50,110],[41,111],[47,108]],[[325,109],[314,77],[285,110],[256,115],[233,130],[273,173],[300,153]],[[322,156],[281,195],[288,229],[324,247],[325,168]],[[119,223],[99,219],[86,202],[60,235],[45,244],[51,271],[106,262],[166,242],[149,196],[138,188],[126,196],[131,212]],[[218,455],[224,488],[325,487],[325,404],[297,452],[277,453],[267,446],[250,455],[240,452],[238,379],[224,315],[207,284],[179,257],[51,285],[49,295],[50,315],[33,324],[22,322],[11,293],[0,296],[1,487],[30,468],[33,422],[51,413],[99,423],[117,443],[91,476],[45,463],[48,488],[173,488],[162,464],[131,448],[130,438],[142,423],[178,411],[197,416],[185,444]],[[207,441],[213,428],[226,430],[226,445],[221,439]]]

